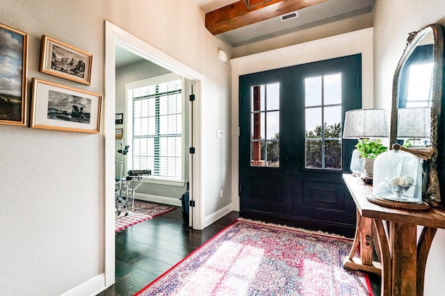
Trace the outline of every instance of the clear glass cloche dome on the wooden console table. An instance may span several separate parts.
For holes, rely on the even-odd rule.
[[[393,202],[422,202],[422,161],[394,145],[374,162],[373,195]]]

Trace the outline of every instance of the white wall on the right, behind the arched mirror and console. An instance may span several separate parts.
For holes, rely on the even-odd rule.
[[[391,110],[392,81],[408,33],[423,26],[445,26],[443,0],[378,0],[374,8],[375,105]],[[444,197],[442,197],[444,199]],[[426,264],[424,295],[444,295],[445,230],[439,229]]]

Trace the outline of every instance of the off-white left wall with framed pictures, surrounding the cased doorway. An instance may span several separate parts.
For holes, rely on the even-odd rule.
[[[230,204],[230,177],[220,176],[230,176],[231,139],[217,139],[215,131],[230,127],[230,66],[217,52],[230,56],[231,49],[204,28],[204,15],[192,0],[0,0],[0,15],[2,24],[29,33],[28,83],[36,77],[104,93],[104,20],[204,74],[205,211]],[[42,34],[93,55],[90,86],[38,72]],[[0,142],[1,294],[89,295],[102,288],[104,130],[0,125]],[[227,188],[222,199],[220,188]]]

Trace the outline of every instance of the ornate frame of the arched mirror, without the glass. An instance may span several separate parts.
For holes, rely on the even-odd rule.
[[[442,151],[442,147],[438,147],[438,126],[440,122],[440,113],[442,107],[442,85],[443,79],[443,60],[444,60],[444,31],[440,24],[430,24],[421,28],[421,30],[412,32],[407,38],[407,44],[403,51],[402,57],[398,62],[394,80],[392,85],[392,109],[391,109],[391,145],[397,140],[397,121],[399,106],[399,86],[401,82],[401,71],[406,65],[408,58],[412,54],[417,44],[428,33],[432,31],[434,35],[433,60],[434,68],[432,70],[432,101],[431,101],[431,139],[430,146],[420,148],[404,148],[403,150],[416,154],[417,156],[428,160],[428,181],[424,190],[423,200],[431,206],[439,206],[442,202],[440,195],[439,176],[437,173],[437,156],[438,149]],[[442,139],[441,139],[442,141]]]

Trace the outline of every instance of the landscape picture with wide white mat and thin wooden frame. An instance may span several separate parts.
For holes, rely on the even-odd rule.
[[[33,78],[31,128],[99,133],[102,95]]]

